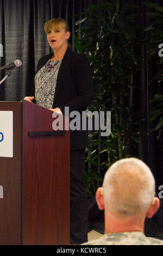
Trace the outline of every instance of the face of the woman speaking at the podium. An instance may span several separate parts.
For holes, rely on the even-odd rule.
[[[47,32],[47,40],[53,50],[59,50],[63,46],[67,46],[68,38],[70,38],[70,32],[65,32],[65,29],[60,24],[54,25]]]

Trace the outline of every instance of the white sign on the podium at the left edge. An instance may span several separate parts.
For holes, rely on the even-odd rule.
[[[12,111],[0,111],[0,157],[13,157]]]

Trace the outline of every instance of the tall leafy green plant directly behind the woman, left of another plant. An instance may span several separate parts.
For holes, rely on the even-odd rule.
[[[143,61],[134,53],[134,47],[142,44],[137,36],[140,28],[135,22],[136,8],[134,1],[121,7],[119,0],[114,4],[99,0],[85,10],[84,19],[76,22],[75,45],[90,60],[96,92],[90,110],[111,111],[110,136],[101,137],[100,131],[95,131],[86,150],[86,162],[91,163],[89,173],[94,171],[93,179],[97,180],[97,168],[105,172],[113,162],[130,155],[129,144],[139,143],[137,114],[129,102],[131,77]],[[88,174],[85,176],[88,180]]]

